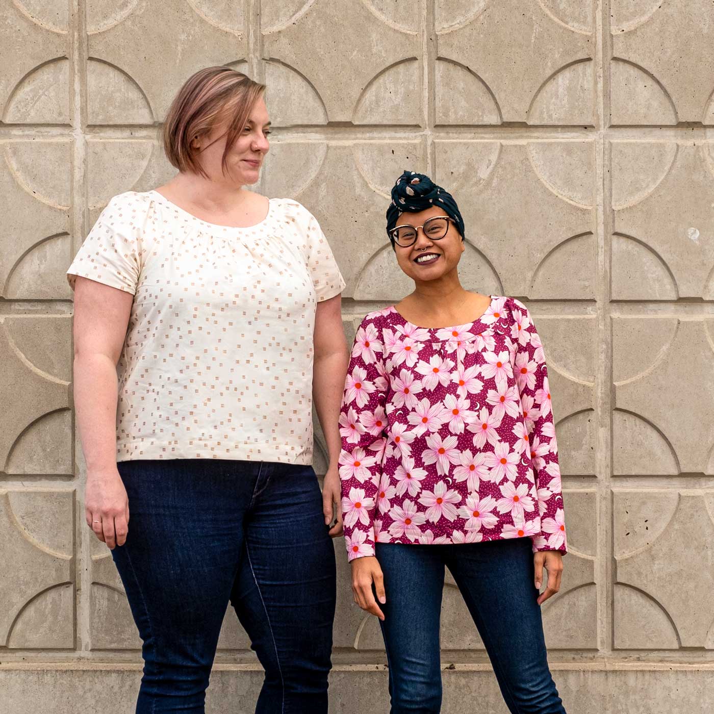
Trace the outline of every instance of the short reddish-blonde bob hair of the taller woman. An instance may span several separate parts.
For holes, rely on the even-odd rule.
[[[227,121],[226,150],[223,151],[223,172],[231,146],[243,131],[256,101],[261,98],[264,84],[246,77],[230,67],[206,67],[190,76],[171,102],[164,121],[163,139],[166,158],[178,171],[191,171],[208,178],[197,160],[198,152],[191,141]]]

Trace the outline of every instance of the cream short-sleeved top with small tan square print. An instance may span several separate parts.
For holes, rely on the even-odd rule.
[[[273,198],[256,226],[156,191],[115,196],[68,273],[134,295],[117,365],[117,461],[312,461],[313,327],[345,283],[314,216]]]

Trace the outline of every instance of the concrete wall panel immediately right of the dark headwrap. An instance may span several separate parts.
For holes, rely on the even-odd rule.
[[[436,142],[436,181],[456,196],[466,240],[483,254],[503,294],[593,296],[593,149],[562,142]],[[573,182],[575,171],[580,176]]]

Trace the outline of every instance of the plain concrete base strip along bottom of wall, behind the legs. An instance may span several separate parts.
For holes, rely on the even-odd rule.
[[[577,714],[708,714],[714,708],[710,664],[647,665],[623,670],[588,664],[553,668],[558,693],[568,712]],[[486,667],[443,667],[443,714],[473,710],[506,714],[496,677]],[[387,714],[389,695],[383,666],[353,665],[336,668],[330,675],[330,714]],[[134,708],[141,670],[138,666],[92,665],[44,669],[0,665],[0,687],[8,714],[45,714],[46,693],[52,693],[53,714],[75,714],[92,708],[106,714],[126,714]],[[216,668],[206,696],[206,713],[252,712],[263,681],[254,668],[226,665]]]

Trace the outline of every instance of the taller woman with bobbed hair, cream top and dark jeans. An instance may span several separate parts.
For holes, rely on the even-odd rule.
[[[203,712],[229,601],[266,670],[256,711],[327,711],[344,281],[306,208],[246,189],[264,89],[188,79],[164,125],[178,174],[112,198],[68,271],[86,521],[144,641],[142,714]]]

